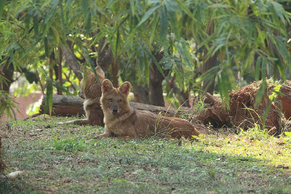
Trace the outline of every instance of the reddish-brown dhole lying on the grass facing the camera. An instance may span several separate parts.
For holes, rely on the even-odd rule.
[[[133,110],[129,106],[130,83],[114,88],[111,81],[102,82],[101,108],[104,113],[105,132],[97,137],[139,138],[153,134],[172,138],[190,138],[199,132],[185,119],[160,117],[149,111]]]

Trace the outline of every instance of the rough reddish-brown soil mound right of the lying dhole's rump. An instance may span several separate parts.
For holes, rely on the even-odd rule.
[[[268,106],[268,91],[265,93],[259,107],[254,107],[256,95],[260,88],[261,81],[253,82],[237,91],[229,93],[229,108],[224,109],[222,101],[207,94],[210,104],[207,109],[198,115],[198,120],[207,125],[211,123],[214,127],[240,127],[242,129],[253,128],[255,124],[263,125],[263,115]],[[266,88],[268,90],[268,88]],[[280,133],[280,114],[278,108],[271,104],[267,115],[265,128],[269,129],[269,134]]]

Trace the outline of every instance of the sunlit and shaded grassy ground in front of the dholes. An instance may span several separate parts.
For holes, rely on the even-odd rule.
[[[0,127],[5,174],[0,194],[290,194],[291,146],[259,128],[202,133],[198,141],[94,139],[101,127],[39,117]],[[285,168],[279,168],[284,165]],[[287,169],[289,167],[289,169]]]

